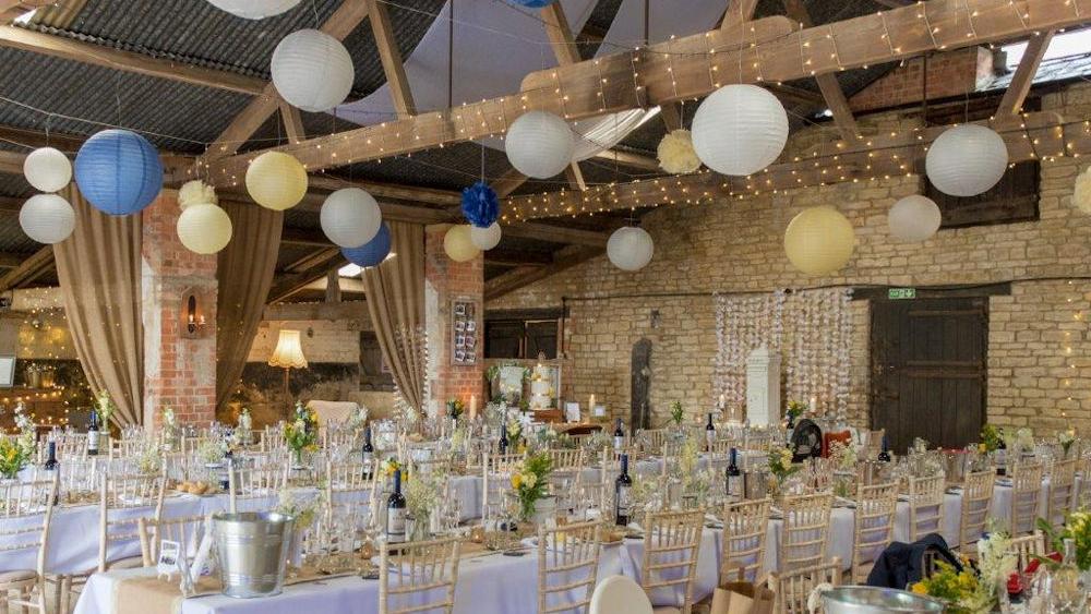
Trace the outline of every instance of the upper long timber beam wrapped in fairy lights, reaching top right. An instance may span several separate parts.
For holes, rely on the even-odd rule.
[[[967,19],[966,0],[927,0],[802,31],[788,17],[765,17],[746,23],[745,35],[717,29],[556,67],[527,75],[518,94],[277,149],[311,170],[388,158],[502,134],[527,109],[597,117],[706,96],[728,83],[791,81],[1075,26],[1089,20],[1091,0],[974,0],[972,13]],[[636,79],[634,65],[640,67]],[[216,160],[212,181],[240,177],[259,153]]]

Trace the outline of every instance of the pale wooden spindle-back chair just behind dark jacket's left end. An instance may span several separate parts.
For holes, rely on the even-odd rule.
[[[792,571],[826,562],[834,495],[817,493],[784,497],[779,569]]]

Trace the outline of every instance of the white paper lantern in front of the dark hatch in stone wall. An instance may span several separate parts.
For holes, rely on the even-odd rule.
[[[946,130],[924,160],[928,180],[944,194],[974,196],[987,192],[1008,168],[1004,139],[984,125],[968,123]]]

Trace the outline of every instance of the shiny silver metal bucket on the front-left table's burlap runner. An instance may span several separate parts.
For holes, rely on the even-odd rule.
[[[249,599],[280,593],[295,521],[266,511],[213,515],[224,594]]]

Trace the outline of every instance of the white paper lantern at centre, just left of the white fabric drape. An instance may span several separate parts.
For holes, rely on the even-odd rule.
[[[576,141],[563,119],[546,111],[530,111],[512,122],[504,149],[515,170],[527,177],[549,179],[572,164]]]

